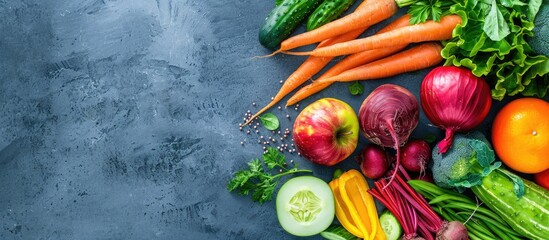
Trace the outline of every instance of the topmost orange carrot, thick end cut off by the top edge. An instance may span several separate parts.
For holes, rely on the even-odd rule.
[[[365,0],[347,16],[284,40],[275,53],[320,42],[355,29],[368,28],[391,17],[397,10],[395,0]]]

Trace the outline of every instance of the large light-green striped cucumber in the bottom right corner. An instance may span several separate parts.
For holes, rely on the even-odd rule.
[[[505,173],[504,173],[505,171]],[[496,169],[471,189],[516,232],[530,239],[549,236],[549,191],[523,179],[524,195],[517,197],[506,170]]]

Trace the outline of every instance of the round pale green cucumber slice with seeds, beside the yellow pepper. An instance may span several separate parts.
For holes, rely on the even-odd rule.
[[[288,180],[276,196],[278,222],[295,236],[312,236],[330,226],[335,216],[330,186],[313,176]]]

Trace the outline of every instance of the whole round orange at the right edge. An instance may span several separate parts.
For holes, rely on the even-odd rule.
[[[494,119],[492,144],[501,161],[518,172],[549,169],[549,103],[520,98],[505,105]]]

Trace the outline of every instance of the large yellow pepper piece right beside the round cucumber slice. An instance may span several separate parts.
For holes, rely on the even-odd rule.
[[[385,240],[368,183],[351,169],[330,182],[336,203],[336,217],[351,234],[368,240]]]

